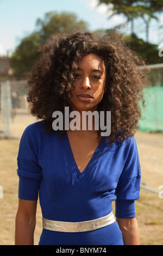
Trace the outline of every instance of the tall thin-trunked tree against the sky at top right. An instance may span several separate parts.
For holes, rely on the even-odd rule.
[[[112,10],[110,17],[115,14],[123,14],[127,21],[131,22],[131,33],[134,33],[134,19],[142,17],[146,23],[146,38],[148,41],[149,22],[151,19],[158,20],[156,14],[163,11],[162,0],[98,0],[98,3],[108,4],[109,10]]]

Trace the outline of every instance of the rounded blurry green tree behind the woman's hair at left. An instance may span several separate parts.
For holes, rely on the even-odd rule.
[[[78,21],[72,13],[50,12],[43,20],[36,21],[35,32],[23,38],[11,56],[11,67],[17,78],[24,78],[31,70],[35,60],[39,58],[37,49],[49,39],[52,34],[67,31],[68,29],[87,29],[85,21]]]

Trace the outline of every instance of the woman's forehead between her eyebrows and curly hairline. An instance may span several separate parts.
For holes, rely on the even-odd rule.
[[[104,71],[105,65],[103,59],[95,53],[90,53],[80,59],[78,68],[90,67],[92,69],[100,69]]]

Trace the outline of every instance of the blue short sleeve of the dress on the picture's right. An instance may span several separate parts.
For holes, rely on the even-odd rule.
[[[141,170],[135,138],[124,150],[124,168],[116,188],[116,217],[134,218],[135,200],[140,196]]]

